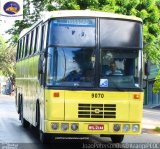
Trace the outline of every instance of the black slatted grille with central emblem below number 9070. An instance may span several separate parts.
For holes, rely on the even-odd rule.
[[[116,105],[78,104],[78,118],[116,118]]]

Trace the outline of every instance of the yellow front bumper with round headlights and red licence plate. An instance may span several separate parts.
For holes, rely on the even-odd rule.
[[[44,133],[141,134],[140,122],[71,122],[45,120]]]

